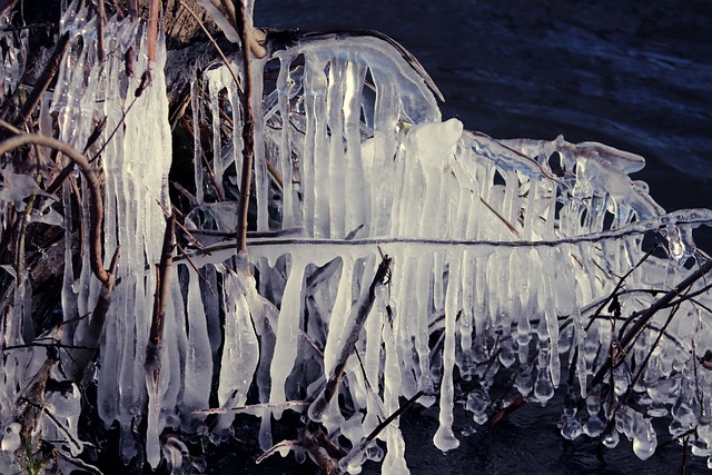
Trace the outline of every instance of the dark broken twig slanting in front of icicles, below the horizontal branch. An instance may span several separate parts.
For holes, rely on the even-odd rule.
[[[388,255],[383,257],[378,265],[378,269],[376,270],[376,275],[368,287],[368,293],[364,293],[359,297],[358,301],[354,304],[352,316],[349,318],[350,323],[348,324],[348,327],[345,328],[346,340],[338,354],[334,369],[332,369],[332,374],[329,374],[329,379],[326,382],[324,390],[309,407],[309,417],[312,420],[322,420],[324,410],[334,395],[338,392],[338,385],[344,376],[346,362],[348,362],[348,357],[354,353],[354,348],[356,348],[356,342],[358,340],[358,335],[364,326],[364,321],[366,321],[366,317],[370,313],[374,301],[376,300],[376,286],[384,285],[384,283],[389,279],[393,259],[388,257]]]

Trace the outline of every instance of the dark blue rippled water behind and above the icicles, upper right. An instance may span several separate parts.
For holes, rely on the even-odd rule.
[[[444,119],[633,151],[666,210],[712,207],[710,0],[257,0],[255,23],[384,32],[438,85]]]

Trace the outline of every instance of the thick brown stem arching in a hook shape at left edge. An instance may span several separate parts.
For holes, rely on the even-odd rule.
[[[26,145],[39,145],[49,147],[61,154],[65,154],[70,160],[76,162],[81,169],[82,175],[87,179],[87,188],[89,189],[89,209],[90,209],[90,243],[91,243],[91,271],[101,283],[109,281],[109,273],[103,268],[101,261],[101,225],[103,221],[103,200],[101,199],[101,187],[97,175],[93,172],[91,165],[87,158],[75,150],[69,144],[57,140],[52,137],[39,133],[24,133],[11,137],[0,142],[0,156]]]

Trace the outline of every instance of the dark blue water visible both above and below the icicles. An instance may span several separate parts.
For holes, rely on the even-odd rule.
[[[595,140],[644,156],[634,178],[666,210],[712,207],[712,1],[504,2],[443,0],[257,1],[256,23],[304,30],[366,28],[405,46],[443,91],[443,117],[496,138]],[[696,234],[712,250],[712,232]],[[599,453],[556,429],[561,407],[526,405],[464,437],[446,455],[433,446],[436,414],[402,419],[414,474],[674,474],[679,445],[646,462],[623,438]],[[660,427],[659,444],[669,439]],[[279,456],[253,465],[239,445],[212,473],[315,473]],[[379,473],[367,465],[364,473]],[[709,473],[702,459],[686,474]]]

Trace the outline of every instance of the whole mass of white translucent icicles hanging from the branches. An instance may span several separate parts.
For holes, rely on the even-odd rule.
[[[125,461],[145,454],[152,467],[161,459],[175,469],[188,464],[180,436],[161,435],[170,428],[226,437],[235,412],[209,425],[206,413],[195,412],[210,407],[210,400],[224,408],[253,405],[245,410],[260,417],[259,444],[269,449],[276,442],[270,427],[285,403],[314,400],[334,370],[353,330],[353,309],[374,278],[378,247],[394,259],[393,271],[377,285],[373,309],[357,329],[360,358],[348,359],[340,398],[323,410],[290,406],[350,441],[354,449],[340,469],[358,473],[365,459],[383,458],[384,473],[407,473],[397,419],[370,444],[363,441],[398,408],[400,397],[418,392],[418,404],[439,405],[435,445],[457,447],[456,402],[465,402],[476,423],[487,420],[500,369],[516,370],[515,387],[531,402],[544,405],[562,386],[567,399],[585,400],[585,408],[566,404],[561,424],[566,438],[585,433],[615,446],[621,434],[646,458],[657,437],[651,417],[665,416],[672,436],[690,435],[695,455],[710,456],[712,373],[694,357],[712,349],[709,295],[698,296],[701,305],[681,303],[660,342],[671,309],[657,313],[627,348],[627,364],[595,387],[591,382],[622,325],[592,320],[599,304],[660,237],[668,256],[659,251],[635,268],[625,278],[630,291],[617,298],[623,316],[650,307],[656,299],[650,290],[665,291],[693,270],[691,231],[710,222],[712,212],[665,214],[644,184],[627,177],[643,166],[632,154],[563,138],[494,140],[463,131],[457,120],[441,121],[433,93],[412,65],[392,44],[364,36],[324,36],[254,63],[255,112],[261,118],[255,128],[254,188],[261,234],[248,246],[251,275],[236,270],[245,256],[236,257],[233,243],[215,237],[235,230],[236,206],[214,200],[196,133],[197,206],[186,226],[210,253],[196,251],[174,266],[160,377],[147,377],[165,229],[157,201],[170,209],[167,53],[159,41],[152,83],[123,117],[139,82],[127,77],[123,56],[135,42],[140,76],[147,67],[142,31],[111,19],[103,34],[112,53],[98,62],[95,22],[88,10],[62,20],[75,47],[53,95],[42,100],[40,127],[50,133],[56,115],[60,138],[81,149],[95,120],[108,118],[105,140],[125,122],[102,154],[106,265],[119,245],[121,257],[93,374],[99,415],[107,426],[120,426]],[[274,83],[263,79],[266,65],[278,68]],[[209,102],[199,95],[199,82]],[[226,188],[239,184],[237,91],[226,66],[192,79],[194,120],[209,110],[214,152],[208,158],[215,182]],[[218,107],[233,116],[233,137],[225,137]],[[71,222],[70,192],[67,188],[59,198],[65,226]],[[81,269],[72,267],[71,239],[68,231],[62,308],[65,320],[73,323],[61,334],[68,345],[80,340],[87,320],[77,317],[91,311],[100,291],[88,257]],[[22,321],[28,307],[18,304],[12,318]],[[27,343],[17,328],[3,330],[6,345]],[[642,362],[653,345],[646,369],[633,382],[633,362]],[[4,354],[2,463],[10,463],[20,444],[11,408],[46,359],[39,347]],[[573,380],[562,375],[570,367]],[[458,393],[458,378],[476,389]],[[614,387],[603,390],[611,382]],[[629,400],[635,404],[610,414],[611,398],[633,383]],[[47,410],[67,426],[46,417],[42,437],[68,445],[77,456],[80,392],[75,386],[52,397]],[[604,432],[610,417],[614,428]],[[139,427],[146,432],[139,434]]]

